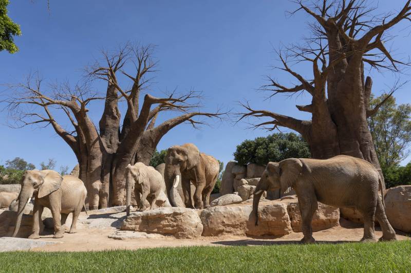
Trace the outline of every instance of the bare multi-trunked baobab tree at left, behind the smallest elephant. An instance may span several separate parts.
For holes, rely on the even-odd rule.
[[[38,73],[31,74],[24,83],[10,85],[12,92],[6,101],[14,121],[12,125],[52,126],[77,157],[90,209],[122,205],[125,167],[136,161],[148,165],[157,144],[171,129],[183,122],[196,128],[204,120],[195,117],[221,115],[199,110],[202,100],[199,92],[173,91],[163,98],[151,95],[148,92],[151,75],[156,71],[153,49],[153,46],[127,44],[116,52],[104,51],[102,60],[85,69],[86,80],[74,87],[68,83],[44,87]],[[106,82],[106,89],[95,91],[92,88],[95,81],[101,80]],[[128,89],[123,87],[126,82]],[[142,92],[146,94],[143,96]],[[88,106],[98,101],[104,101],[104,109],[95,124]],[[121,119],[122,102],[126,104],[126,112]],[[55,111],[64,113],[72,130],[66,130],[58,122]],[[170,111],[180,114],[156,124],[159,114]]]

